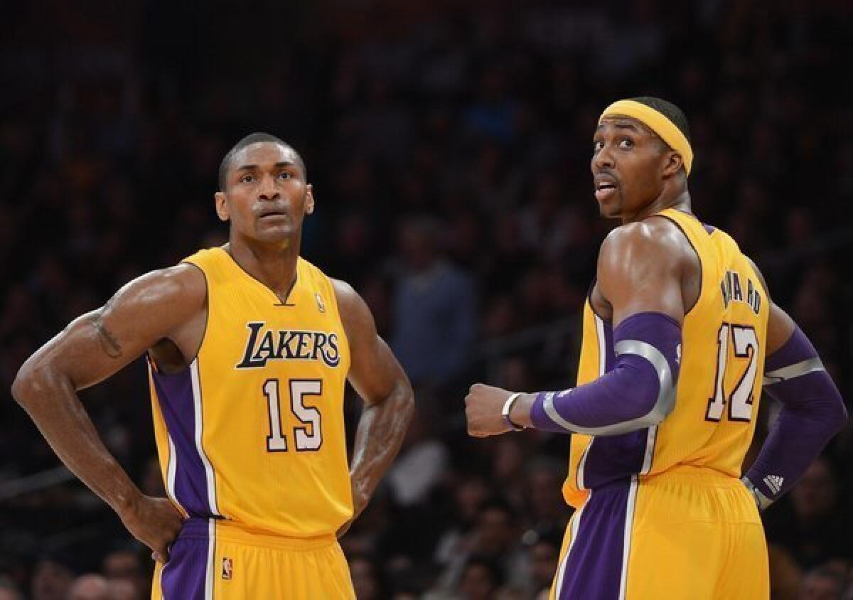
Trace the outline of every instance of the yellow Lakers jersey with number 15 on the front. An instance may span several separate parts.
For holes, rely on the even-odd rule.
[[[343,399],[349,346],[334,288],[299,259],[281,303],[223,248],[188,259],[207,281],[197,357],[149,361],[154,433],[169,498],[187,516],[290,537],[352,515]]]

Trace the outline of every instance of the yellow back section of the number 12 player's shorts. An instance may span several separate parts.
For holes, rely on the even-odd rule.
[[[691,467],[641,478],[626,598],[763,600],[769,579],[755,499],[739,480]]]

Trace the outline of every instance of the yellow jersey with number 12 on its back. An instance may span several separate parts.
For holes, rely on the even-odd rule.
[[[755,430],[764,368],[769,301],[734,240],[675,209],[658,213],[687,236],[701,265],[699,300],[684,317],[675,408],[659,425],[615,436],[572,434],[566,501],[630,475],[678,464],[740,477]],[[577,385],[612,369],[612,324],[583,308]]]

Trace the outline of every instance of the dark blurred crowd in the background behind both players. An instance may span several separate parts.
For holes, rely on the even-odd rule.
[[[470,440],[462,399],[476,381],[572,385],[614,225],[598,216],[591,138],[619,97],[685,111],[694,211],[756,260],[850,398],[853,111],[839,86],[853,4],[613,6],[4,9],[0,600],[147,597],[153,563],[106,504],[74,480],[22,479],[58,461],[9,387],[30,353],[131,278],[225,241],[218,164],[252,131],[304,156],[317,210],[303,255],[363,294],[415,384],[397,463],[342,540],[362,600],[548,588],[571,515],[568,440]],[[162,494],[142,360],[82,397],[143,491]],[[774,414],[765,400],[756,446]],[[351,394],[350,435],[359,410]],[[774,598],[853,598],[851,464],[848,427],[765,512]]]

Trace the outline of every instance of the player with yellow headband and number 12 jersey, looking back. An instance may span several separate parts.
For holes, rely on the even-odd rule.
[[[592,172],[601,245],[577,387],[476,384],[470,434],[572,434],[577,508],[551,597],[769,597],[758,510],[792,486],[846,419],[808,339],[731,237],[690,209],[687,119],[641,97],[601,115]],[[741,479],[762,386],[783,408]]]

